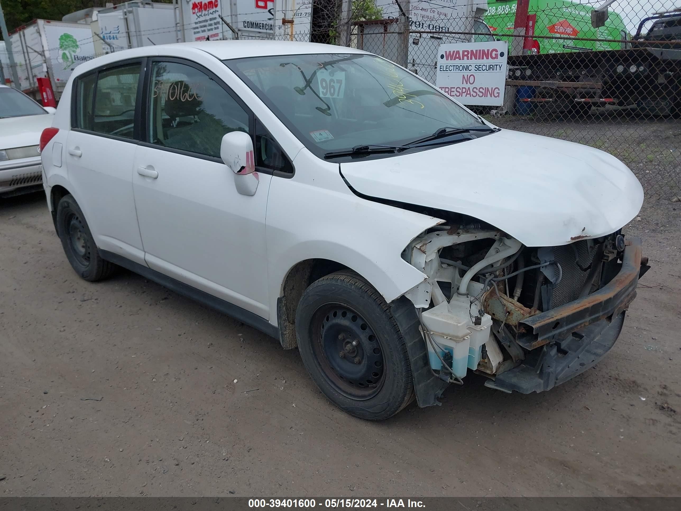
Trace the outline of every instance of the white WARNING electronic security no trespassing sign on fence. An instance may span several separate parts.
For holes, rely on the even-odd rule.
[[[504,103],[505,41],[441,44],[437,56],[437,87],[464,105]]]

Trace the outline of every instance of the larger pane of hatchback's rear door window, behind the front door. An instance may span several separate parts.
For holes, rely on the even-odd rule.
[[[100,71],[95,88],[93,131],[133,138],[140,64]]]

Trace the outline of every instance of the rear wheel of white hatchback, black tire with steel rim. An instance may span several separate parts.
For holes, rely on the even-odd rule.
[[[85,216],[72,195],[63,196],[57,205],[57,234],[66,258],[82,279],[106,279],[116,269],[115,264],[99,256]]]

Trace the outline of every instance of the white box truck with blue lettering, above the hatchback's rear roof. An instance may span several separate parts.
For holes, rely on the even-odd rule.
[[[181,41],[177,10],[172,3],[125,2],[97,11],[90,24],[97,53]]]

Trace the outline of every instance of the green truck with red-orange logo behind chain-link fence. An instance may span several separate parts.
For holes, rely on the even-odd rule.
[[[508,41],[503,33],[513,32],[517,0],[488,1],[485,22],[500,40]],[[535,35],[547,37],[586,37],[588,39],[629,40],[624,22],[619,14],[609,12],[605,26],[595,29],[591,26],[591,11],[594,5],[569,0],[530,0],[528,14],[536,15]],[[619,50],[628,43],[601,41],[570,41],[565,39],[536,39],[534,48],[538,53],[560,53],[588,50]]]

